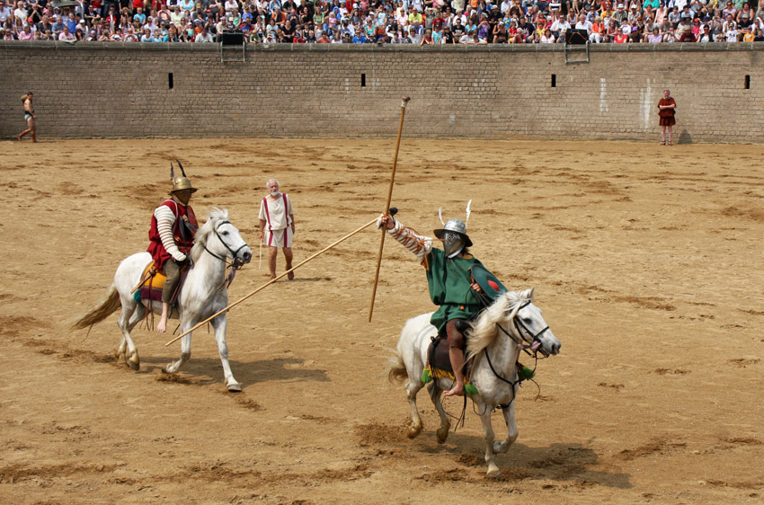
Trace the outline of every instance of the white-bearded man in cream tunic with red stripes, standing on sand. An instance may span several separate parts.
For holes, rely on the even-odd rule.
[[[276,256],[279,248],[284,250],[287,270],[292,268],[292,237],[295,235],[295,209],[287,193],[280,191],[280,184],[275,179],[265,183],[268,196],[260,202],[260,240],[268,245],[268,267],[271,280],[276,279]],[[289,272],[288,279],[294,279],[294,272]]]

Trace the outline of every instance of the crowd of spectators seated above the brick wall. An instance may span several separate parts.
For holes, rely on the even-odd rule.
[[[764,40],[764,0],[0,0],[3,40],[503,44]]]

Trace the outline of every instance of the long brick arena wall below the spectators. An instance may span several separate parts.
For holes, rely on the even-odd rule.
[[[0,41],[0,137],[33,91],[40,137],[395,137],[410,95],[407,136],[655,140],[670,88],[675,137],[762,142],[762,51],[606,44],[565,64],[561,45],[313,44],[222,63],[217,44]]]

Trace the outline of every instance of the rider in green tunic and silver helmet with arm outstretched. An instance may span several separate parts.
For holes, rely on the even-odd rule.
[[[466,208],[469,220],[469,204]],[[440,215],[440,211],[439,211]],[[440,217],[440,222],[443,222]],[[432,247],[433,239],[418,234],[413,228],[404,226],[392,216],[381,216],[378,227],[385,226],[387,233],[416,255],[426,270],[432,303],[439,306],[430,323],[445,332],[449,338],[449,359],[454,370],[456,383],[446,392],[446,396],[464,395],[464,332],[483,306],[478,298],[480,286],[472,280],[470,270],[482,265],[469,253],[472,240],[466,235],[466,223],[461,219],[450,219],[435,230],[435,236],[443,241],[443,249]]]

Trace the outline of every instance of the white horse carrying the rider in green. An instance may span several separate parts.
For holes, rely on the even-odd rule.
[[[506,452],[518,438],[515,423],[515,394],[519,385],[517,360],[521,349],[530,349],[545,355],[560,352],[560,341],[549,330],[541,310],[533,305],[533,289],[504,292],[491,306],[485,309],[474,323],[474,329],[467,338],[466,359],[473,361],[470,384],[475,385],[477,394],[470,396],[483,422],[485,433],[485,462],[488,474],[495,474],[499,467],[493,455]],[[422,431],[422,418],[416,407],[416,394],[424,387],[422,370],[427,364],[427,350],[430,337],[438,330],[430,323],[430,314],[422,314],[409,319],[398,341],[397,356],[391,360],[388,370],[391,381],[405,380],[405,390],[413,424],[408,430],[409,439]],[[522,343],[522,342],[527,342]],[[451,423],[440,403],[440,394],[453,385],[450,379],[434,379],[428,390],[432,403],[440,413],[438,441],[449,437]],[[507,439],[493,441],[491,413],[497,406],[502,407],[507,424]]]

